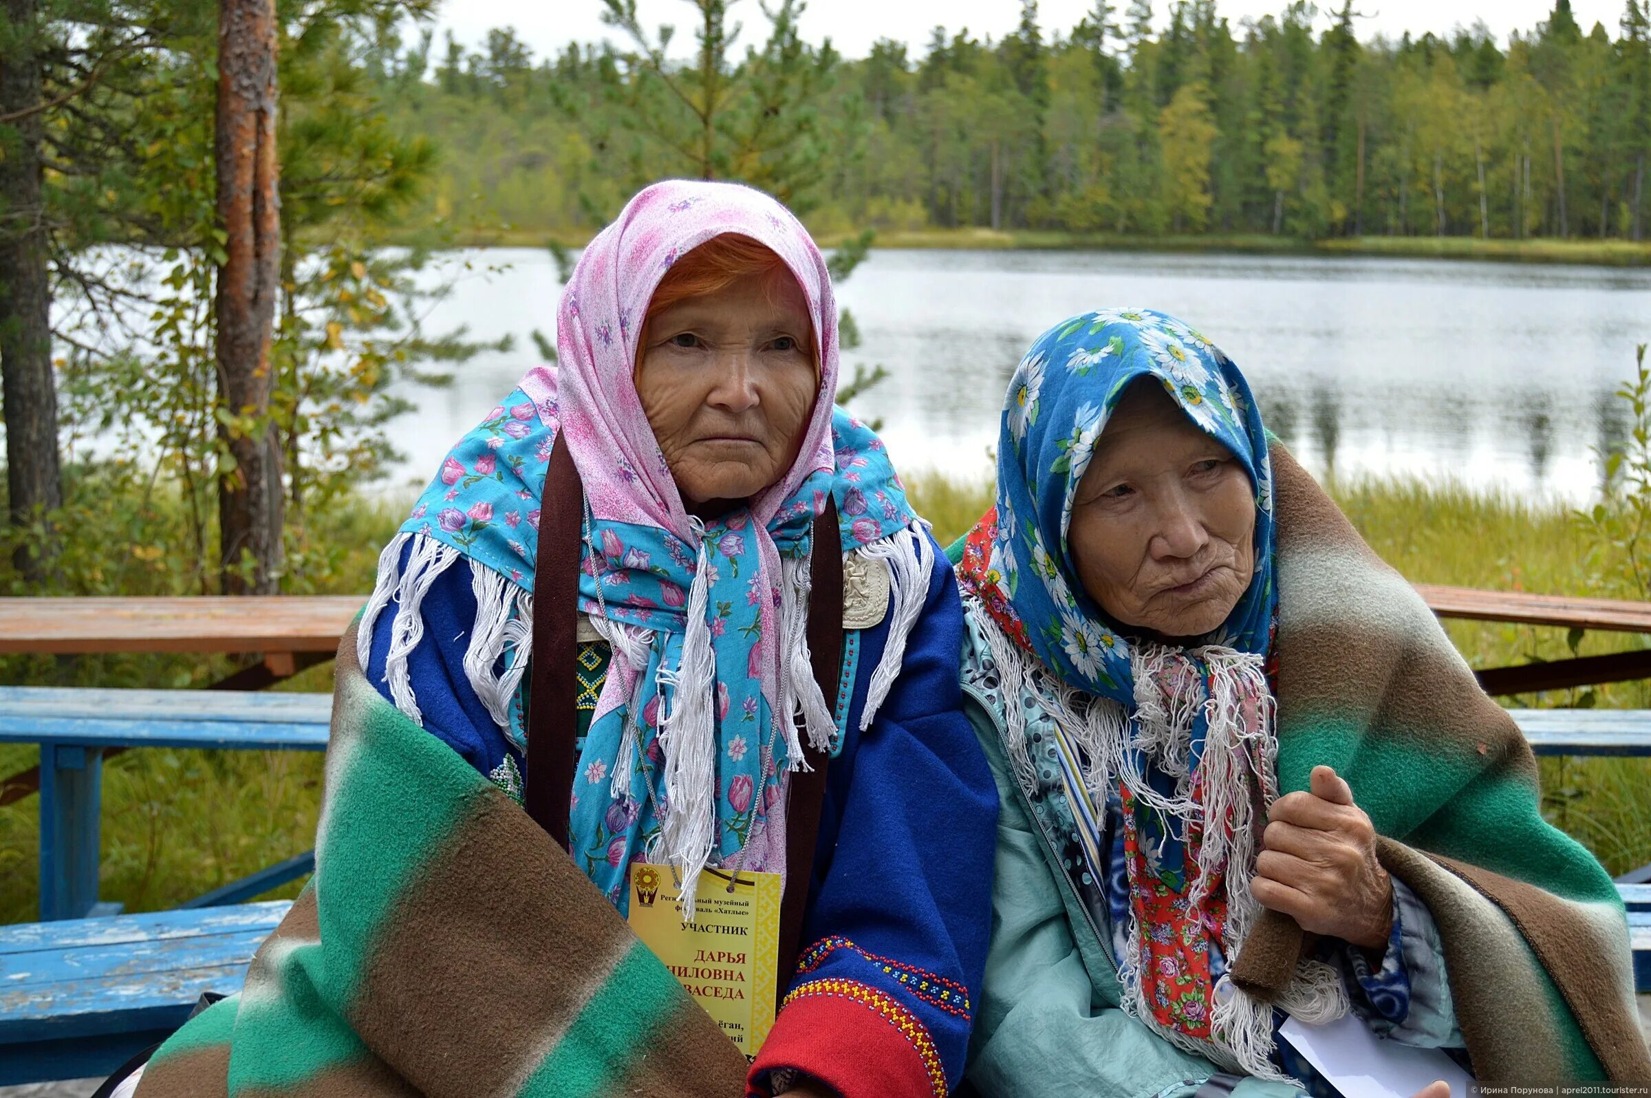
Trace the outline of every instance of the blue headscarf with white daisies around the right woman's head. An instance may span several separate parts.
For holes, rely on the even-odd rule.
[[[1131,705],[1129,641],[1078,581],[1067,532],[1073,495],[1118,401],[1154,378],[1233,452],[1255,485],[1255,578],[1205,641],[1266,654],[1273,588],[1273,472],[1250,386],[1195,329],[1149,309],[1057,324],[1009,383],[997,444],[997,505],[969,535],[964,580],[992,616],[1068,685]]]

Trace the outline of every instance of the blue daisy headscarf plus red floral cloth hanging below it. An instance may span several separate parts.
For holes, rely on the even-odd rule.
[[[1268,654],[1276,594],[1271,469],[1261,418],[1237,367],[1197,330],[1161,312],[1126,309],[1073,317],[1045,332],[1020,360],[1002,414],[996,507],[966,537],[959,571],[964,586],[1015,644],[1065,685],[1121,703],[1131,722],[1139,720],[1133,642],[1083,589],[1067,533],[1095,444],[1124,391],[1139,378],[1162,385],[1194,424],[1240,461],[1255,485],[1255,578],[1227,622],[1202,644]],[[1184,649],[1164,664],[1154,687],[1166,702],[1185,693],[1187,680],[1204,685],[1202,698],[1213,697],[1212,665],[1204,652],[1202,646]],[[1243,773],[1260,779],[1263,796],[1270,793],[1271,771],[1258,712],[1266,702],[1245,698],[1240,707],[1245,735],[1238,740]],[[1123,844],[1131,908],[1126,925],[1133,928],[1118,958],[1123,977],[1138,981],[1141,1004],[1159,1025],[1199,1040],[1217,1037],[1212,1010],[1220,973],[1212,971],[1212,954],[1218,966],[1227,893],[1225,868],[1194,880],[1187,867],[1199,860],[1205,829],[1232,834],[1230,817],[1212,822],[1202,812],[1207,791],[1199,761],[1209,708],[1213,707],[1199,707],[1180,763],[1197,806],[1190,821],[1172,819],[1142,802],[1141,789],[1129,789],[1128,783],[1103,791],[1103,797],[1121,797],[1123,809],[1123,827],[1111,835]],[[1085,880],[1093,888],[1095,880],[1105,880],[1116,867],[1106,850],[1106,801],[1096,802],[1083,779],[1083,766],[1093,760],[1068,760],[1078,748],[1063,730],[1057,728],[1052,738],[1055,743],[1047,750],[1058,763],[1083,854],[1068,870],[1081,895]],[[1164,773],[1164,760],[1131,750],[1136,773],[1171,797],[1176,779]]]

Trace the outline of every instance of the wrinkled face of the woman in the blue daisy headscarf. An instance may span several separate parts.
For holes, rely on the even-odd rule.
[[[1255,575],[1255,489],[1156,381],[1136,383],[1078,482],[1067,547],[1118,622],[1197,637],[1227,621]]]

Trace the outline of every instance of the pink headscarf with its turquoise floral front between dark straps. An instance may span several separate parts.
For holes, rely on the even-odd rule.
[[[634,373],[654,291],[677,259],[723,233],[773,249],[796,277],[814,322],[819,396],[792,467],[746,509],[702,523],[684,507]],[[631,717],[619,758],[642,753],[646,766],[646,751],[659,745],[665,794],[659,850],[684,870],[684,895],[692,895],[692,877],[717,857],[743,850],[750,862],[755,850],[761,862],[763,852],[769,860],[779,854],[764,824],[779,801],[781,774],[802,764],[792,713],[804,717],[811,741],[830,735],[829,710],[807,674],[801,598],[807,573],[801,571],[799,586],[797,571],[834,467],[830,276],[802,225],[768,195],[731,183],[655,183],[580,258],[556,314],[556,345],[551,414],[571,446],[601,538],[593,547],[599,551],[588,551],[601,599],[584,598],[581,608],[601,619],[616,655],[593,730],[624,708]],[[650,680],[660,684],[657,695]],[[650,705],[655,698],[660,703]],[[647,735],[655,722],[657,740]],[[611,789],[629,794],[621,761],[613,764]],[[604,807],[576,806],[573,829],[591,831],[603,850],[611,840],[601,822],[613,816]],[[581,827],[581,817],[591,827]]]

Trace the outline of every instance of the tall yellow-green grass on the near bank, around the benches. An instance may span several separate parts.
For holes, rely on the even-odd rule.
[[[926,474],[908,480],[911,504],[949,543],[991,502],[981,480]],[[1587,537],[1557,505],[1534,505],[1507,494],[1478,494],[1418,480],[1354,482],[1334,487],[1347,517],[1407,578],[1474,588],[1597,593]],[[395,528],[391,505],[340,509],[312,532],[340,548],[325,584],[367,591],[373,558]],[[1448,624],[1451,639],[1476,667],[1570,655],[1562,629],[1496,622]],[[1636,646],[1625,634],[1587,634],[1582,654]],[[51,662],[0,664],[0,682],[121,685],[201,685],[229,669],[223,660],[187,657],[104,657],[63,667]],[[286,689],[327,690],[317,667]],[[1517,705],[1588,703],[1587,690],[1512,698]],[[1651,707],[1644,684],[1601,687],[1601,707]],[[33,764],[33,750],[0,748],[0,778]],[[248,751],[129,751],[104,771],[102,895],[127,910],[172,906],[193,895],[307,850],[320,804],[320,756]],[[1549,817],[1621,873],[1651,862],[1651,761],[1542,760]],[[36,910],[38,802],[0,809],[0,923],[30,920]],[[272,895],[296,895],[289,887]]]

